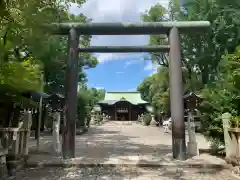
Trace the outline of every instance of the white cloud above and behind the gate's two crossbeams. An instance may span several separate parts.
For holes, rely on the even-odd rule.
[[[70,11],[83,13],[93,22],[140,22],[140,14],[156,3],[167,7],[169,0],[88,0],[82,7],[73,5]],[[148,36],[93,36],[91,45],[146,45]],[[120,60],[137,54],[96,54],[99,62]]]

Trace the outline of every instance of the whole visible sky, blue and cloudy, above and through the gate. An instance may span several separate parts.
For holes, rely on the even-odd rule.
[[[82,7],[72,6],[74,14],[83,13],[93,22],[139,22],[140,14],[156,3],[168,0],[88,0]],[[91,45],[147,45],[149,36],[93,36]],[[86,71],[88,85],[107,91],[135,91],[141,81],[156,71],[143,53],[94,54],[99,64]]]

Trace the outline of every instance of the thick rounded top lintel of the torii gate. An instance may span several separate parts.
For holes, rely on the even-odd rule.
[[[167,34],[176,27],[180,33],[203,33],[210,26],[208,21],[172,21],[140,23],[54,23],[46,25],[54,34],[67,35],[76,29],[79,35],[147,35]],[[45,27],[46,27],[45,26]]]

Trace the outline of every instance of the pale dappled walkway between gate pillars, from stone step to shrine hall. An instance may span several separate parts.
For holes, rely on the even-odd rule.
[[[197,141],[200,148],[208,148],[202,135],[197,135]],[[50,142],[48,146],[46,142]],[[44,151],[52,151],[51,137],[43,137],[41,144],[44,144]],[[159,127],[111,121],[93,126],[86,134],[76,137],[76,159],[89,164],[169,163],[172,161],[171,144],[171,134],[164,133]],[[29,162],[45,159],[42,155],[33,157]]]

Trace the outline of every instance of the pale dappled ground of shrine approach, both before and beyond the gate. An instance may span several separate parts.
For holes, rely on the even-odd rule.
[[[41,139],[41,150],[46,153],[30,154],[29,164],[75,163],[87,164],[83,168],[28,168],[17,174],[23,180],[237,180],[230,170],[211,168],[187,168],[171,158],[171,134],[158,127],[145,127],[136,122],[106,122],[93,126],[89,132],[76,137],[76,158],[63,161],[51,154],[51,137]],[[186,138],[187,139],[187,138]],[[197,135],[198,146],[208,148],[202,135]],[[31,142],[32,148],[34,143]],[[209,155],[200,155],[184,163],[225,164],[225,161]],[[91,167],[91,164],[128,164],[133,166]],[[136,164],[162,164],[161,168],[143,168]],[[82,167],[82,166],[80,166]]]

